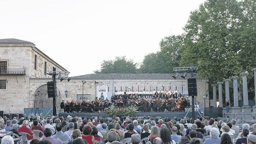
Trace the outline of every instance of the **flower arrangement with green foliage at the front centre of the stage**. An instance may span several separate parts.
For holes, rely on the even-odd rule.
[[[106,111],[108,115],[126,115],[126,116],[135,116],[138,112],[138,108],[135,106],[129,106],[124,108],[118,108],[114,106],[110,106],[109,109]]]

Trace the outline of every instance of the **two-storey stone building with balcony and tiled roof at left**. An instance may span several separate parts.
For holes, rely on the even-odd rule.
[[[34,106],[30,78],[51,77],[53,67],[66,70],[40,51],[32,42],[0,39],[0,111],[24,113]]]

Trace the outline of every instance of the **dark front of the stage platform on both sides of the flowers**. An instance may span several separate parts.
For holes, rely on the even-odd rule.
[[[136,113],[135,116],[139,117],[139,116],[152,116],[152,117],[157,117],[157,116],[161,116],[162,118],[164,117],[168,117],[168,118],[173,118],[173,117],[177,117],[177,118],[182,118],[186,115],[187,112],[138,112]],[[67,116],[70,115],[73,118],[75,116],[78,117],[82,117],[82,116],[86,116],[86,117],[92,117],[92,116],[102,116],[102,118],[106,118],[109,117],[109,115],[107,113],[59,113],[59,116],[63,116],[64,118],[67,118]],[[195,112],[195,116],[199,115],[198,113]],[[189,112],[187,115],[189,118],[191,118],[192,116],[192,112]]]

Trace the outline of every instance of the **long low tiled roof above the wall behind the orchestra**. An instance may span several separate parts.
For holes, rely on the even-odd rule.
[[[182,73],[183,74],[183,73]],[[71,77],[71,79],[83,79],[83,80],[98,80],[98,79],[174,79],[173,74],[86,74],[81,76]],[[191,74],[187,74],[185,79],[191,77]],[[195,78],[201,78],[198,74],[195,74]],[[183,79],[178,76],[176,79]]]

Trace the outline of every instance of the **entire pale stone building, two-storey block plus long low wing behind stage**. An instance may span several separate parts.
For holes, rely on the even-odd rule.
[[[1,64],[2,61],[7,63],[3,67],[1,65],[0,81],[3,87],[0,89],[0,111],[24,113],[24,108],[52,107],[52,98],[48,98],[47,95],[47,82],[52,79],[46,73],[53,67],[56,67],[56,71],[66,71],[66,69],[36,48],[32,42],[2,39],[0,47]],[[188,78],[190,74],[187,74],[185,79],[180,76],[174,79],[172,74],[86,74],[71,77],[69,82],[65,79],[60,82],[57,79],[56,104],[59,105],[61,100],[80,100],[82,94],[84,94],[83,97],[92,101],[96,97],[98,85],[107,86],[107,94],[110,97],[115,90],[121,89],[149,91],[177,89],[178,93],[187,95]],[[208,90],[209,80],[198,77],[197,74],[196,78],[197,101],[204,102],[203,106],[209,107],[209,97],[203,98],[203,94]],[[86,83],[83,85],[82,81]],[[40,91],[39,95],[38,91]],[[67,95],[65,91],[68,91]]]

